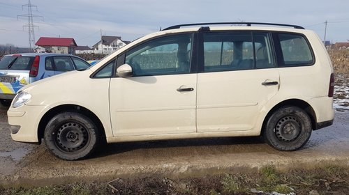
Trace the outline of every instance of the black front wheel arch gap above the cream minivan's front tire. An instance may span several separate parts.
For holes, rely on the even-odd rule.
[[[38,125],[38,142],[39,143],[41,143],[41,139],[43,139],[44,132],[45,132],[45,127],[46,127],[47,123],[50,121],[50,119],[53,116],[55,116],[55,115],[57,115],[57,114],[59,114],[59,113],[61,113],[63,111],[75,111],[75,112],[77,112],[79,114],[83,114],[84,116],[89,117],[98,126],[98,131],[101,133],[101,139],[102,140],[106,139],[105,138],[105,130],[104,130],[103,124],[102,124],[101,120],[98,118],[98,116],[96,116],[96,114],[94,114],[89,109],[87,109],[85,107],[81,107],[79,105],[64,104],[64,105],[59,105],[57,107],[54,107],[54,108],[50,109],[41,118],[40,123]]]

